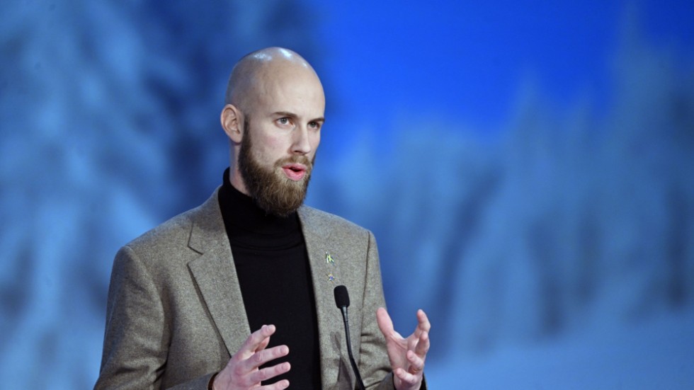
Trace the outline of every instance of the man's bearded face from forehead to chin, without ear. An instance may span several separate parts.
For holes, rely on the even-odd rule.
[[[246,193],[258,206],[285,216],[297,210],[306,196],[320,142],[324,98],[319,82],[312,84],[315,77],[281,81],[266,86],[252,106],[253,115],[245,115],[238,169]]]

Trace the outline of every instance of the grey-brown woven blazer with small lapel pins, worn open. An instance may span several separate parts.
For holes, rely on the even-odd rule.
[[[207,389],[251,334],[218,190],[118,251],[95,389]],[[349,289],[351,342],[364,384],[393,389],[375,318],[385,301],[373,234],[311,207],[298,213],[314,285],[323,389],[355,388],[336,285]]]

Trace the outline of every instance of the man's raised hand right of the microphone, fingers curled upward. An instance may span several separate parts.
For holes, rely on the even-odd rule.
[[[421,309],[417,311],[419,323],[414,333],[407,338],[402,338],[402,335],[394,330],[393,321],[382,307],[376,311],[376,321],[385,337],[395,389],[419,389],[423,378],[426,352],[429,350],[429,329],[431,329],[426,314]]]

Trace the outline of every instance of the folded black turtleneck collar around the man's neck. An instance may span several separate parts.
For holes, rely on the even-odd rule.
[[[234,188],[229,181],[229,168],[224,171],[218,200],[232,245],[265,248],[293,245],[297,240],[297,232],[298,239],[302,239],[296,212],[288,217],[268,214],[250,196]]]

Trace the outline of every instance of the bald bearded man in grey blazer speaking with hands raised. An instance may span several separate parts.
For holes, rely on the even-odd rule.
[[[234,67],[223,184],[118,252],[96,389],[354,389],[336,285],[351,293],[364,384],[424,387],[426,314],[409,337],[395,332],[371,232],[302,205],[324,106],[295,52]]]

